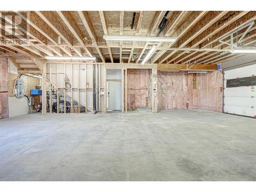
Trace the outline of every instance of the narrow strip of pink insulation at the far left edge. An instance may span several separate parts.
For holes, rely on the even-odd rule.
[[[8,60],[0,57],[0,119],[9,116],[8,90]]]

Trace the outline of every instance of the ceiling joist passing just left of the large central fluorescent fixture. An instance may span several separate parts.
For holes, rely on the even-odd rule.
[[[89,14],[86,11],[78,11],[78,14],[79,14],[80,18],[82,19],[82,23],[83,23],[84,27],[86,28],[89,36],[91,37],[91,39],[93,41],[93,44],[94,44],[97,52],[99,53],[99,56],[100,56],[102,62],[105,62],[105,58],[102,56],[102,54],[101,54],[101,52],[98,48],[97,36],[96,36],[96,33],[93,29],[93,25],[91,23]]]

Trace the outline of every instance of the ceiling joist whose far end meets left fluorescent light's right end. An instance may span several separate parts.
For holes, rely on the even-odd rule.
[[[57,13],[60,16],[60,18],[63,20],[63,22],[67,25],[67,27],[72,32],[72,34],[75,36],[75,38],[78,40],[82,48],[87,52],[87,54],[90,57],[92,57],[93,55],[90,53],[90,51],[82,41],[82,39],[84,38],[84,35],[82,34],[80,28],[75,23],[74,18],[71,16],[69,11],[57,11]]]

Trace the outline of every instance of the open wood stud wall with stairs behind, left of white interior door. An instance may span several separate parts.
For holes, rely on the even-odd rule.
[[[98,66],[98,90],[99,90],[99,110],[101,113],[104,113],[105,110],[102,108],[102,97],[101,92],[105,92],[105,86],[103,83],[102,76],[104,78],[104,73],[101,71],[104,69],[102,64],[92,64],[92,63],[77,63],[77,64],[55,64],[55,63],[44,63],[44,68],[47,73],[43,75],[43,98],[44,98],[44,110],[43,114],[47,114],[46,112],[46,91],[49,91],[49,102],[50,109],[49,114],[53,114],[52,104],[53,104],[53,95],[52,91],[56,91],[56,100],[57,100],[57,109],[59,109],[59,96],[63,95],[64,101],[69,101],[71,104],[71,113],[79,114],[79,113],[93,113],[93,66]],[[80,71],[84,71],[83,73]],[[104,72],[104,70],[103,70]],[[60,77],[62,74],[62,78]],[[56,75],[55,75],[56,74]],[[66,87],[65,77],[66,74],[70,80],[71,87]],[[82,79],[81,79],[82,78]],[[81,81],[82,84],[80,83]],[[89,87],[87,87],[87,82],[89,82]],[[83,100],[81,98],[81,94]],[[67,100],[70,98],[70,100]],[[77,104],[76,104],[77,103]],[[67,104],[64,102],[64,109],[67,109]],[[81,108],[85,109],[85,112],[81,112]],[[83,110],[84,111],[84,110]],[[57,110],[57,113],[60,113]],[[66,110],[63,111],[63,114],[66,114]]]

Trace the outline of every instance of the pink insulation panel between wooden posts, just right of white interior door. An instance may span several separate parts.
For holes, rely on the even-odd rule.
[[[135,110],[138,106],[151,106],[150,70],[127,70],[127,110]]]

